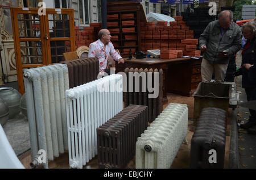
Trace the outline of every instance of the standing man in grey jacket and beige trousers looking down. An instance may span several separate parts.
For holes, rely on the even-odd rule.
[[[230,57],[242,47],[241,28],[233,22],[233,12],[221,11],[218,20],[210,22],[199,37],[202,82],[210,82],[214,72],[216,82],[224,82]]]

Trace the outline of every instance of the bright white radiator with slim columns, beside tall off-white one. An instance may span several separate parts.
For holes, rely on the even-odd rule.
[[[122,75],[112,74],[66,91],[69,166],[97,155],[97,127],[123,109]]]

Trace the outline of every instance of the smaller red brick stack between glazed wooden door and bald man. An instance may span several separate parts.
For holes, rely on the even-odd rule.
[[[90,43],[93,43],[98,39],[98,31],[101,30],[101,23],[90,23],[90,27],[84,27],[83,31],[79,30],[79,27],[75,27],[75,41],[76,49],[82,45],[89,47]]]

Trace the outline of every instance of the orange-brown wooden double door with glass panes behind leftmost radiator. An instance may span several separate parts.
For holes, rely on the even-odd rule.
[[[63,49],[64,52],[75,51],[73,9],[46,9],[46,15],[38,15],[38,10],[38,8],[11,7],[18,88],[21,94],[24,94],[24,68],[58,63],[63,57]],[[48,18],[56,14],[61,17],[58,21]],[[68,17],[68,21],[61,20],[64,16]],[[58,28],[56,28],[57,22]],[[49,23],[52,26],[49,26]],[[66,25],[61,27],[61,23]],[[65,31],[64,35],[68,34],[68,36],[61,36],[61,31]],[[52,34],[55,36],[52,37]],[[53,48],[56,53],[53,53]]]

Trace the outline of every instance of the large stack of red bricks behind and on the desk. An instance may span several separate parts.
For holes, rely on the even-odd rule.
[[[160,49],[162,57],[175,58],[180,56],[200,56],[200,51],[196,50],[197,39],[193,39],[193,30],[189,30],[183,21],[183,16],[175,16],[175,22],[159,21],[141,23],[141,50],[147,52],[149,49]],[[180,55],[181,50],[183,55]],[[178,55],[179,52],[179,55]]]

